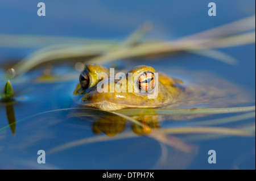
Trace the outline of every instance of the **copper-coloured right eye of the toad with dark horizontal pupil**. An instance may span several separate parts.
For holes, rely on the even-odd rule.
[[[139,90],[142,92],[147,92],[154,89],[155,87],[154,73],[152,73],[151,71],[146,71],[141,75],[139,75],[138,87],[139,87]]]

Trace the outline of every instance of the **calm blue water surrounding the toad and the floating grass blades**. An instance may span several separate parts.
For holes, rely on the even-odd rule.
[[[250,0],[214,0],[217,6],[215,17],[208,16],[207,5],[212,1],[204,0],[43,2],[46,4],[46,16],[39,17],[36,14],[36,1],[0,1],[0,34],[122,40],[143,22],[150,21],[154,27],[145,39],[173,40],[255,14],[255,1]],[[0,47],[0,63],[3,65],[20,60],[38,48]],[[255,44],[219,50],[240,63],[232,66],[212,58],[182,53],[159,57],[155,61],[122,61],[122,65],[130,69],[138,64],[147,64],[164,72],[171,68],[207,71],[249,89],[252,99],[255,99]],[[2,67],[0,71],[4,72]],[[1,81],[1,87],[4,83]],[[14,90],[19,90],[16,91],[19,101],[14,104],[18,122],[15,137],[9,127],[0,132],[1,169],[255,169],[254,136],[192,141],[189,143],[199,146],[199,150],[190,154],[177,153],[174,148],[163,146],[152,138],[138,136],[94,142],[47,154],[47,163],[39,165],[36,162],[39,149],[47,151],[67,142],[96,137],[92,132],[91,118],[68,118],[68,111],[28,117],[44,111],[77,107],[72,100],[76,83],[74,80],[50,84],[13,84]],[[251,105],[249,103],[247,106]],[[0,108],[1,129],[8,124],[5,106],[1,104]],[[213,118],[217,117],[209,117]],[[255,118],[237,125],[253,122]],[[130,132],[129,124],[124,134],[127,132]],[[216,164],[207,162],[210,149],[217,152]],[[163,150],[175,159],[164,157],[168,164],[161,165],[158,161]],[[176,166],[176,162],[180,162],[180,165]]]

